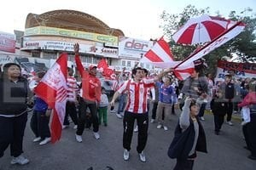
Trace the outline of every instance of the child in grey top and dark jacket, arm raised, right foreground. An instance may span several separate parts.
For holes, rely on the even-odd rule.
[[[207,153],[207,140],[198,117],[199,106],[190,97],[185,99],[168,156],[177,158],[173,170],[193,169],[196,151]]]

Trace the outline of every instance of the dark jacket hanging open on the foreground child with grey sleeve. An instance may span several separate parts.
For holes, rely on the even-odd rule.
[[[206,134],[198,118],[197,122],[199,125],[199,135],[195,150],[207,153]],[[194,139],[195,130],[193,121],[190,119],[190,125],[184,132],[182,132],[179,122],[177,122],[174,138],[172,139],[172,143],[168,149],[168,156],[177,159],[187,159],[189,157],[190,150],[192,150]]]

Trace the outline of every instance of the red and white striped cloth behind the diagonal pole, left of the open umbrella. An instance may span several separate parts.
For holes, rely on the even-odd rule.
[[[181,61],[174,61],[169,44],[164,40],[163,37],[159,41],[154,43],[153,48],[149,49],[145,57],[141,60],[144,63],[153,64],[160,68],[174,68]],[[177,67],[173,72],[179,80],[184,80],[194,72],[193,62],[189,65],[183,65]]]

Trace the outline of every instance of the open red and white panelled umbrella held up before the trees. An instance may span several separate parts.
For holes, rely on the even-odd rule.
[[[207,14],[197,18],[189,19],[172,38],[177,43],[199,44],[211,42],[212,39],[224,32],[228,27],[233,26],[234,22],[220,17],[213,17]]]

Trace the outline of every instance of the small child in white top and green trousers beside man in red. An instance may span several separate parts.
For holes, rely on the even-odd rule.
[[[102,88],[101,101],[99,103],[99,124],[102,124],[102,119],[104,126],[107,127],[107,113],[108,113],[108,96],[105,92],[105,89]]]

